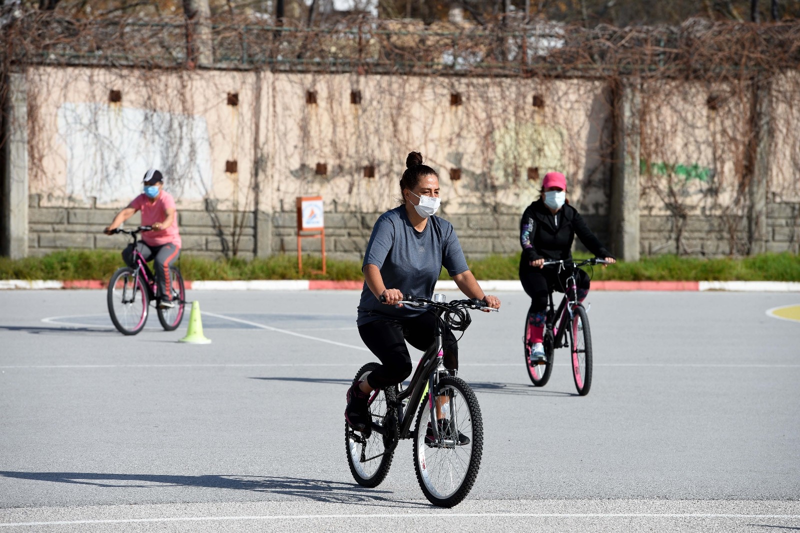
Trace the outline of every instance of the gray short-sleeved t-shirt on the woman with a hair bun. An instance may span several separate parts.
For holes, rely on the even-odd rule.
[[[375,222],[366,245],[364,264],[378,266],[387,289],[432,298],[442,266],[451,276],[469,270],[453,225],[444,218],[428,218],[425,229],[417,231],[406,214],[406,206],[386,211]],[[379,319],[409,319],[423,308],[387,306],[380,303],[364,283],[358,303],[358,326]]]

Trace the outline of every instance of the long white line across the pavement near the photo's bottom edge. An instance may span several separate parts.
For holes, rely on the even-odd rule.
[[[90,523],[201,522],[222,520],[302,520],[302,519],[408,519],[408,518],[702,518],[702,519],[800,519],[800,515],[739,515],[728,513],[386,513],[363,515],[254,515],[254,516],[177,516],[146,519],[56,520],[53,522],[0,523],[0,527],[68,526]]]

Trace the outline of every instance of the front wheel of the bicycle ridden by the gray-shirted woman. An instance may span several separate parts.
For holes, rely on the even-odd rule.
[[[429,431],[432,409],[438,439]],[[475,393],[463,379],[442,378],[433,399],[428,395],[420,406],[414,430],[414,470],[428,501],[438,507],[461,503],[478,477],[482,451],[483,422]]]

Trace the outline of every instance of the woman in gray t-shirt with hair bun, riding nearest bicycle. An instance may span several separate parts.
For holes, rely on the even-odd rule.
[[[408,154],[400,191],[402,205],[378,218],[364,254],[365,283],[356,323],[364,344],[382,364],[360,376],[347,391],[345,418],[356,431],[370,427],[370,392],[402,383],[411,374],[406,340],[422,351],[434,340],[436,316],[424,308],[398,304],[404,293],[432,298],[444,266],[468,298],[500,307],[500,300],[484,295],[470,272],[453,226],[434,216],[439,206],[439,176],[422,164],[422,154]],[[458,346],[450,331],[444,333],[443,351],[445,367],[456,370]]]

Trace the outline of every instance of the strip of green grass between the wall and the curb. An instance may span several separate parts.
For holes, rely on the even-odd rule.
[[[579,256],[579,255],[578,255]],[[586,256],[580,256],[586,257]],[[477,279],[517,279],[519,254],[492,255],[468,261]],[[0,258],[0,279],[109,279],[122,266],[115,250],[62,250],[41,258],[11,260]],[[319,257],[303,259],[304,275],[299,275],[297,256],[274,255],[246,261],[193,257],[180,260],[185,279],[362,279],[361,262],[329,259],[327,275],[311,275],[322,267]],[[449,279],[442,271],[442,279]],[[638,262],[618,262],[606,269],[594,267],[594,279],[680,280],[680,281],[800,281],[800,256],[761,254],[745,258],[689,258],[658,255]]]

